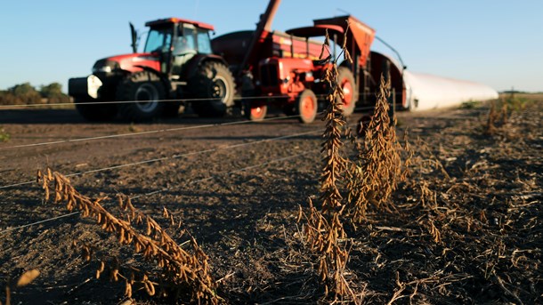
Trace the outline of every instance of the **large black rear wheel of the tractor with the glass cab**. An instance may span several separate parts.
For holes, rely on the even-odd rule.
[[[199,116],[221,117],[234,105],[234,77],[220,62],[207,61],[189,81],[191,95],[196,99],[192,108]]]

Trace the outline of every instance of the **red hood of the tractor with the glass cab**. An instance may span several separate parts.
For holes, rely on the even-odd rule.
[[[137,72],[141,71],[142,67],[149,67],[160,71],[158,53],[130,53],[97,60],[93,66],[93,74],[109,74],[116,70]]]

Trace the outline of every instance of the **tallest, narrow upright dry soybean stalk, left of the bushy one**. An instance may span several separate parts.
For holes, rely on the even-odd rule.
[[[346,39],[344,39],[346,40]],[[329,46],[328,35],[323,50]],[[323,52],[324,53],[324,52]],[[329,52],[328,52],[329,53]],[[350,56],[344,50],[345,60]],[[309,201],[309,213],[304,214],[300,210],[300,219],[304,216],[305,238],[312,250],[319,255],[318,273],[320,282],[324,284],[325,294],[333,293],[336,298],[349,298],[351,289],[344,280],[344,269],[348,259],[348,251],[344,243],[345,232],[340,216],[344,210],[343,197],[340,194],[339,185],[343,181],[342,174],[345,171],[346,159],[341,157],[340,149],[342,128],[345,124],[341,108],[343,92],[337,82],[337,67],[335,62],[329,62],[323,81],[328,83],[328,108],[326,116],[326,129],[322,137],[321,153],[323,155],[323,168],[320,176],[320,201],[321,209],[318,210]]]

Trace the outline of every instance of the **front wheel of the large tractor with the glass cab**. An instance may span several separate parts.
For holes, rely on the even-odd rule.
[[[121,81],[118,85],[117,100],[127,102],[119,104],[119,112],[127,121],[148,121],[162,114],[166,92],[160,78],[148,71],[136,72]]]

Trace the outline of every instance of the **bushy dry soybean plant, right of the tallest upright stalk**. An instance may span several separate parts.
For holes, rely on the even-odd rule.
[[[388,96],[390,80],[381,76],[377,93],[377,104],[369,125],[364,128],[363,145],[357,145],[357,159],[350,163],[347,171],[347,213],[354,223],[364,220],[369,205],[391,211],[393,205],[389,199],[398,188],[400,181],[405,181],[409,174],[408,166],[412,150],[409,148],[407,135],[402,147],[397,140],[395,120],[388,115]],[[407,152],[402,162],[401,153]]]

